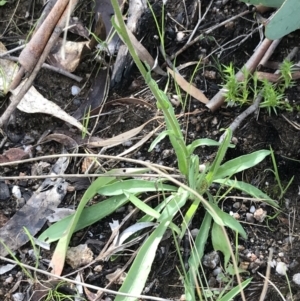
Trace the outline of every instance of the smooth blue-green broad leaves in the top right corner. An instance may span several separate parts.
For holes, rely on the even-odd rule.
[[[298,0],[241,0],[248,4],[276,7],[278,11],[266,25],[266,37],[276,40],[300,28]]]

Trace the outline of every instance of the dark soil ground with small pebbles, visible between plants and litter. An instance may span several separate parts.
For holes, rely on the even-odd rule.
[[[0,42],[3,43],[7,49],[13,49],[17,47],[20,41],[24,41],[34,24],[34,21],[42,11],[41,3],[36,3],[32,8],[33,14],[30,17],[25,17],[24,12],[29,7],[31,1],[8,1],[0,9]],[[222,3],[225,4],[222,4]],[[17,4],[18,3],[18,4]],[[197,1],[188,0],[185,1],[186,12],[182,11],[182,2],[180,1],[169,1],[166,6],[166,13],[170,17],[166,17],[165,26],[165,51],[168,56],[172,56],[178,51],[188,38],[188,34],[193,30],[195,24],[198,21],[197,14]],[[158,17],[161,16],[161,4],[153,3],[157,5]],[[209,7],[210,1],[201,1],[202,13]],[[92,9],[92,1],[87,3],[81,3],[78,9],[75,11],[75,15],[83,22],[85,26],[89,26],[91,18],[89,17]],[[240,12],[246,11],[247,7],[237,0],[229,1],[212,1],[212,5],[208,10],[208,13],[197,29],[196,36],[202,31],[211,27],[212,25],[218,24],[232,16],[237,15]],[[31,11],[31,12],[32,12]],[[88,13],[89,12],[89,13]],[[266,13],[265,17],[268,17],[270,13]],[[168,15],[168,16],[169,16]],[[176,20],[176,22],[172,20]],[[180,30],[180,26],[176,25],[187,24],[187,31]],[[10,22],[10,23],[9,23]],[[147,22],[147,23],[146,23]],[[137,35],[143,35],[145,28],[147,28],[147,34],[144,37],[144,46],[149,52],[155,56],[157,48],[154,36],[157,34],[155,24],[151,19],[149,11],[140,20],[139,26],[141,27],[140,32]],[[245,15],[245,17],[237,18],[227,25],[222,26],[209,35],[206,35],[202,40],[198,41],[176,59],[176,65],[183,65],[189,62],[198,61],[200,57],[205,58],[213,51],[216,51],[214,55],[209,56],[203,67],[199,68],[197,73],[194,75],[194,85],[201,89],[205,95],[211,99],[220,89],[223,84],[223,79],[220,70],[218,69],[221,65],[229,65],[230,62],[239,70],[246,62],[246,60],[252,55],[254,49],[260,41],[259,33],[256,31],[251,34],[253,28],[257,26],[256,20],[253,13]],[[180,34],[183,33],[183,39],[180,38]],[[247,36],[247,39],[240,43],[243,38]],[[69,35],[70,39],[82,40],[75,34]],[[234,40],[236,39],[236,40]],[[271,56],[272,62],[282,62],[288,53],[299,45],[300,32],[294,32],[282,39],[279,46],[276,48],[274,54]],[[229,41],[233,41],[230,44],[226,44]],[[222,47],[222,45],[227,45]],[[232,46],[232,47],[229,47]],[[218,50],[219,49],[219,50]],[[87,56],[80,63],[79,67],[75,71],[75,74],[81,76],[83,81],[78,84],[74,80],[60,75],[56,72],[43,69],[39,72],[36,80],[34,81],[35,88],[46,98],[55,102],[62,109],[64,109],[70,115],[80,111],[82,106],[84,107],[88,97],[91,97],[91,89],[97,87],[95,79],[97,77],[97,70],[100,63],[95,60],[95,53]],[[115,56],[113,57],[115,59]],[[106,57],[106,60],[110,60]],[[205,59],[204,59],[205,60]],[[300,53],[297,52],[293,61],[296,63],[300,60]],[[160,66],[164,66],[164,61],[159,56]],[[137,72],[136,68],[128,67],[126,74],[124,72],[121,82],[112,83],[111,88],[108,92],[108,97],[105,100],[106,103],[110,102],[110,105],[102,107],[102,111],[97,124],[95,126],[95,118],[91,118],[89,129],[91,130],[95,126],[93,135],[102,139],[110,138],[131,129],[137,128],[142,125],[146,120],[150,120],[155,117],[157,110],[155,109],[154,97],[150,94],[149,90],[146,89],[146,85]],[[183,69],[182,74],[189,80],[193,75],[194,66]],[[270,68],[264,68],[264,71],[274,72]],[[206,72],[215,72],[212,77],[207,76]],[[158,74],[153,75],[156,80],[160,80],[159,85],[164,86],[167,79]],[[71,94],[72,86],[80,86],[81,91],[78,95],[73,96]],[[102,84],[99,83],[99,86]],[[102,86],[101,86],[102,87]],[[291,280],[293,275],[298,273],[300,270],[299,265],[299,254],[300,249],[300,228],[299,224],[299,181],[300,181],[300,112],[297,106],[300,105],[299,96],[299,82],[295,82],[292,88],[286,91],[286,99],[294,108],[293,112],[286,112],[278,110],[277,114],[268,114],[266,110],[259,110],[254,114],[248,116],[241,124],[241,126],[234,132],[236,141],[236,147],[230,149],[226,155],[226,160],[236,158],[243,154],[249,154],[256,150],[270,149],[274,150],[275,158],[277,162],[278,172],[282,181],[283,187],[285,187],[290,180],[293,178],[292,184],[284,194],[281,200],[278,200],[280,190],[278,183],[271,170],[274,170],[271,158],[268,158],[263,163],[259,164],[255,169],[250,169],[243,174],[239,175],[247,183],[251,183],[262,191],[269,194],[275,200],[280,202],[280,212],[276,213],[272,208],[265,204],[254,203],[251,200],[242,201],[239,198],[228,198],[223,204],[223,210],[227,212],[238,212],[240,217],[239,220],[245,228],[249,238],[247,241],[240,240],[239,256],[241,262],[247,264],[249,274],[247,277],[254,277],[253,283],[249,288],[246,289],[247,301],[256,300],[260,295],[263,279],[258,275],[265,273],[266,264],[268,260],[269,249],[274,249],[273,260],[281,261],[288,265],[289,269],[287,275]],[[95,92],[96,93],[96,92]],[[174,83],[171,82],[169,87],[170,98],[176,94]],[[97,94],[96,96],[99,96]],[[149,105],[142,105],[133,101],[118,101],[118,99],[128,99],[134,97],[143,100]],[[6,109],[9,100],[8,97],[1,97],[1,113]],[[99,105],[102,105],[101,102]],[[96,108],[96,106],[95,106]],[[190,143],[197,138],[211,138],[218,140],[221,136],[221,129],[227,128],[232,121],[239,116],[241,112],[245,110],[245,107],[228,107],[223,105],[215,112],[211,112],[207,107],[200,103],[194,98],[188,98],[188,102],[183,112],[181,106],[176,107],[176,113],[186,113],[184,117],[181,117],[180,123],[183,131],[186,134],[187,142]],[[99,111],[99,110],[98,110]],[[93,113],[93,111],[92,111]],[[192,113],[192,114],[187,114]],[[75,114],[76,115],[76,114]],[[74,115],[74,116],[75,116]],[[80,120],[80,118],[79,118]],[[290,123],[287,121],[289,120]],[[295,122],[294,126],[291,122]],[[297,123],[299,123],[297,129]],[[143,136],[147,135],[151,130],[159,125],[159,119],[155,122],[149,123],[139,133],[137,137],[132,139],[135,143]],[[39,155],[52,155],[59,154],[62,152],[62,143],[57,141],[49,141],[40,144],[37,148],[39,139],[45,133],[64,133],[65,135],[81,136],[78,129],[74,130],[71,126],[66,124],[64,121],[59,120],[55,117],[51,117],[45,114],[26,114],[21,111],[16,111],[14,116],[10,119],[7,126],[3,129],[1,139],[7,137],[3,143],[1,143],[1,153],[11,148],[18,148],[24,146],[32,147],[32,156],[36,157]],[[75,138],[74,138],[75,139]],[[144,144],[139,146],[133,152],[127,154],[129,158],[139,159],[143,161],[150,161],[153,163],[163,164],[165,166],[176,168],[176,160],[174,159],[174,151],[167,139],[164,139],[159,144],[159,149],[152,152],[148,152],[148,148],[154,137],[146,141]],[[78,142],[80,145],[80,142]],[[108,149],[102,149],[102,152],[107,155],[118,155],[123,151],[127,150],[130,145],[121,144]],[[89,151],[98,153],[101,148],[89,149]],[[79,153],[84,153],[86,148],[79,148]],[[203,162],[209,162],[215,154],[215,148],[203,148],[198,151],[200,158]],[[50,160],[50,167],[55,161]],[[127,163],[116,163],[110,162],[104,165],[106,170],[113,167],[129,167]],[[33,163],[19,164],[11,167],[0,167],[0,175],[3,176],[18,176],[21,174],[30,175],[32,171]],[[45,174],[49,171],[49,166],[44,170]],[[83,165],[81,160],[75,160],[69,165],[66,174],[82,173]],[[97,172],[97,171],[95,171]],[[1,181],[4,183],[4,181]],[[0,226],[3,226],[18,210],[22,207],[22,204],[12,196],[12,189],[15,185],[18,185],[21,189],[24,202],[32,195],[32,192],[37,189],[40,185],[41,180],[6,180],[5,188],[1,187],[1,193],[5,192],[8,187],[8,195],[1,197],[0,200]],[[80,186],[78,183],[73,184],[75,187],[74,191],[69,191],[67,196],[61,203],[61,207],[76,207],[84,190],[87,188],[88,181],[82,183]],[[2,185],[2,184],[1,184]],[[72,185],[72,184],[71,184]],[[77,187],[76,187],[77,186]],[[97,202],[97,199],[93,200]],[[243,206],[243,210],[240,206]],[[257,221],[249,221],[247,214],[254,206],[255,209],[263,208],[267,211],[267,218],[262,223]],[[109,238],[110,228],[109,222],[112,219],[121,220],[130,210],[130,208],[124,208],[123,213],[115,213],[108,218],[97,223],[89,229],[84,229],[77,232],[72,239],[72,246],[76,246],[79,243],[85,243],[92,237],[102,237],[105,239]],[[200,221],[203,217],[203,212],[199,212],[191,225],[191,229],[199,227]],[[2,221],[2,224],[1,224]],[[45,229],[44,226],[43,229]],[[234,237],[232,237],[234,241]],[[90,243],[91,249],[97,253],[99,252],[97,244]],[[157,254],[155,266],[151,272],[149,279],[149,294],[179,300],[180,296],[184,293],[180,277],[177,273],[176,267],[179,265],[178,255],[171,241],[166,240],[163,242],[162,247],[166,250],[162,254]],[[185,249],[186,246],[182,245],[182,252],[188,252]],[[30,245],[27,244],[22,248],[19,253],[22,254],[21,258],[24,263],[33,264],[34,260],[30,258],[26,250],[30,249]],[[51,248],[53,250],[53,247]],[[207,254],[212,251],[212,246],[207,246]],[[41,268],[46,269],[47,259],[51,258],[51,251],[42,251],[41,253],[42,262],[40,263]],[[85,281],[90,284],[95,284],[104,287],[107,283],[105,278],[106,274],[111,273],[118,267],[123,266],[128,260],[127,256],[119,259],[116,262],[107,262],[103,272],[97,275],[91,274],[87,276]],[[4,265],[4,261],[0,262]],[[72,272],[72,268],[67,266],[64,274]],[[212,271],[209,268],[205,268],[206,277],[213,281]],[[12,295],[16,292],[26,292],[29,290],[29,283],[24,281],[26,277],[23,276],[22,283],[18,283],[20,279],[21,270],[16,267],[9,273],[0,275],[0,299],[1,300],[12,300]],[[87,274],[88,275],[88,272]],[[246,278],[246,276],[245,276]],[[287,295],[289,288],[285,276],[276,273],[275,268],[271,269],[270,280],[275,283],[280,291]],[[291,281],[292,292],[294,294],[294,300],[297,299],[298,290],[297,287]],[[215,283],[212,286],[217,287],[219,284]],[[117,288],[115,285],[113,288]],[[29,290],[31,291],[31,290]],[[113,298],[113,297],[111,297]],[[24,299],[28,300],[28,299]],[[238,300],[238,299],[236,299]],[[269,289],[268,295],[265,300],[282,300],[279,295],[273,290]]]

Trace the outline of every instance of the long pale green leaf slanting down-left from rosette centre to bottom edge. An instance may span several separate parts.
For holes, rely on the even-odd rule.
[[[130,267],[125,281],[119,290],[120,292],[126,292],[134,295],[142,292],[151,270],[158,244],[169,227],[173,216],[186,203],[188,196],[189,193],[182,191],[181,189],[176,195],[173,196],[173,199],[169,202],[160,216],[159,226],[153,231],[153,233],[147,238],[140,248],[133,264]],[[115,301],[133,300],[136,299],[124,296],[117,296],[115,298]]]

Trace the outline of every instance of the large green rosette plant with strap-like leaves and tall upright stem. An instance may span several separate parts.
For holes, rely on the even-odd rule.
[[[254,198],[263,199],[270,206],[278,208],[278,204],[258,188],[232,178],[235,174],[260,163],[265,157],[269,156],[271,152],[269,150],[260,150],[223,162],[228,148],[233,147],[230,144],[232,137],[230,130],[226,131],[225,139],[222,143],[203,138],[197,139],[187,145],[174,109],[166,93],[158,87],[157,83],[151,77],[149,68],[147,70],[137,56],[127,34],[117,1],[112,0],[112,5],[115,11],[115,19],[112,21],[113,25],[119,36],[128,46],[134,62],[156,98],[158,109],[160,109],[164,115],[166,130],[153,141],[150,146],[150,151],[162,139],[168,137],[175,151],[178,169],[183,180],[178,181],[174,179],[170,174],[158,169],[157,166],[131,159],[130,162],[145,166],[146,171],[152,170],[156,172],[160,176],[160,179],[157,181],[146,181],[132,178],[134,177],[134,173],[141,172],[141,169],[132,169],[131,171],[127,171],[125,175],[123,174],[123,176],[122,170],[118,170],[119,176],[113,175],[116,173],[116,170],[111,170],[107,172],[104,177],[95,180],[86,190],[73,216],[49,227],[42,233],[40,239],[48,242],[59,240],[52,258],[52,263],[55,263],[54,273],[60,273],[64,264],[65,252],[74,231],[101,220],[119,207],[124,206],[127,202],[131,202],[144,213],[140,222],[155,221],[157,225],[139,248],[127,277],[119,290],[119,292],[122,293],[138,295],[143,290],[147,281],[156,250],[166,231],[172,229],[176,239],[181,241],[198,208],[203,207],[206,213],[200,225],[199,234],[192,245],[191,255],[188,260],[188,271],[184,277],[186,299],[196,300],[195,287],[198,280],[201,279],[198,270],[199,267],[201,267],[205,243],[210,237],[214,249],[221,251],[224,255],[224,271],[228,273],[228,275],[236,275],[239,281],[239,284],[231,289],[230,292],[219,297],[220,301],[230,300],[237,294],[242,294],[243,288],[251,280],[241,282],[238,277],[240,270],[237,267],[236,257],[231,248],[226,228],[236,233],[236,235],[242,236],[244,239],[247,238],[247,234],[237,220],[219,208],[219,200],[211,193],[210,187],[213,183],[217,183],[221,187],[237,189]],[[243,84],[239,85],[243,86]],[[245,98],[246,94],[244,94],[243,97]],[[203,146],[217,146],[218,151],[213,162],[204,169],[200,169],[201,158],[195,154],[195,150]],[[166,184],[166,181],[170,181],[173,185]],[[162,202],[155,208],[151,208],[142,200],[142,194],[145,192],[160,192],[162,194]],[[86,208],[86,204],[89,200],[98,194],[108,198],[96,205]],[[181,212],[181,209],[184,207],[187,207],[187,209],[185,212]],[[175,216],[182,216],[181,224],[173,223]],[[200,300],[202,299],[201,291],[202,289],[198,291]],[[129,301],[132,300],[132,297],[117,296],[115,300]]]

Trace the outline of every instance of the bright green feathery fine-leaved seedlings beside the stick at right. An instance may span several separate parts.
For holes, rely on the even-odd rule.
[[[277,115],[277,109],[292,111],[293,108],[287,100],[285,100],[284,91],[293,86],[292,81],[293,63],[284,60],[280,66],[280,81],[278,84],[272,84],[268,80],[259,81],[257,73],[251,75],[246,69],[242,70],[243,80],[238,81],[235,76],[233,64],[224,66],[224,82],[223,91],[225,93],[226,102],[235,105],[249,105],[258,96],[259,90],[263,96],[260,108],[265,108],[269,114],[272,111]]]

